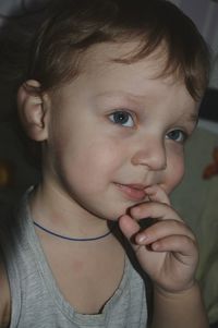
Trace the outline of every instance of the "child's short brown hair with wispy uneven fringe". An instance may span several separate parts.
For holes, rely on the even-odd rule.
[[[99,42],[140,40],[137,51],[117,61],[131,63],[165,45],[162,75],[179,72],[191,96],[201,99],[209,72],[207,46],[194,23],[165,0],[58,1],[32,45],[25,80],[55,88],[80,73],[84,51]]]

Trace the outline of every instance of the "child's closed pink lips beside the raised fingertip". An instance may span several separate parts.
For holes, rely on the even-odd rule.
[[[147,196],[145,185],[143,184],[122,184],[116,183],[116,186],[121,191],[124,196],[130,201],[141,202]]]

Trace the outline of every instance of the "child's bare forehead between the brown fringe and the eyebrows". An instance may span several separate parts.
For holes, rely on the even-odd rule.
[[[144,97],[148,93],[158,94],[177,92],[194,102],[190,96],[184,82],[177,72],[162,75],[167,61],[167,52],[164,46],[157,48],[153,53],[135,62],[118,62],[120,59],[130,58],[138,50],[140,44],[105,42],[92,47],[83,57],[81,62],[81,74],[78,78],[86,82],[92,81],[93,87],[100,94],[108,92],[119,93],[122,90],[136,97]],[[174,96],[174,94],[173,94]]]

